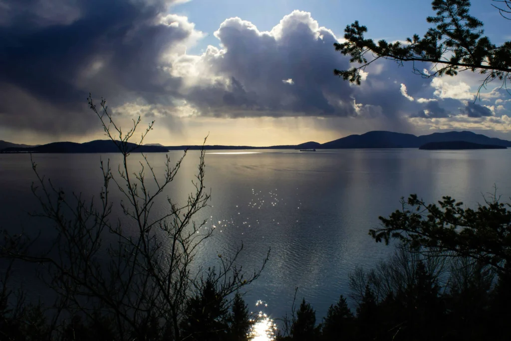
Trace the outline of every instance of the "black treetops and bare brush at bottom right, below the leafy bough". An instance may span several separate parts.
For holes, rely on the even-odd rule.
[[[295,291],[276,340],[507,341],[511,277],[496,281],[494,270],[470,257],[424,254],[400,244],[375,267],[350,273],[355,316],[341,295],[316,326],[305,299],[296,309]]]

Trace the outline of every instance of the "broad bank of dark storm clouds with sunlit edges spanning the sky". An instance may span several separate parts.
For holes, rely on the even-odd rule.
[[[459,107],[457,99],[440,106],[431,80],[390,62],[372,63],[361,86],[334,77],[349,58],[307,12],[292,12],[270,32],[227,19],[215,32],[219,48],[187,55],[184,46],[201,33],[168,14],[173,2],[0,0],[8,5],[0,6],[0,124],[86,133],[97,127],[89,91],[117,113],[173,126],[179,116],[332,118],[319,120],[328,125],[354,117],[371,129],[411,131],[410,112],[444,118]]]

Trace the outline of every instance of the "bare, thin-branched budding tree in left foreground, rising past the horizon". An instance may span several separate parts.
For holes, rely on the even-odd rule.
[[[31,238],[33,234],[10,234],[4,230],[0,257],[36,264],[40,279],[55,293],[55,304],[45,311],[49,316],[49,338],[59,338],[64,331],[67,337],[73,331],[79,332],[81,325],[76,318],[71,320],[71,329],[66,325],[72,316],[81,316],[89,327],[108,321],[109,325],[103,328],[111,330],[118,340],[190,339],[195,330],[182,322],[199,309],[212,309],[207,315],[210,317],[222,315],[227,298],[257,279],[268,257],[261,268],[247,274],[236,264],[241,245],[234,255],[219,255],[211,267],[193,266],[198,245],[213,233],[212,229],[205,229],[206,220],[195,220],[211,197],[204,186],[204,151],[199,154],[192,181],[194,191],[182,202],[167,197],[165,213],[155,216],[153,206],[161,202],[158,198],[165,195],[187,152],[174,166],[166,155],[162,178],[144,154],[140,169],[133,172],[128,158],[142,145],[154,121],[137,143],[130,143],[140,117],[123,132],[105,100],[100,108],[90,96],[88,103],[107,137],[119,148],[122,163],[118,173],[111,171],[109,160],[101,161],[103,188],[98,204],[80,194],[64,193],[51,179],[39,174],[33,161],[38,183],[32,185],[32,191],[41,207],[34,216],[51,222],[55,238],[50,243],[39,243],[42,251],[37,251],[32,247],[37,242]],[[119,207],[123,219],[112,214],[112,183],[123,197]],[[42,323],[37,316],[31,317],[31,326]],[[219,328],[217,322],[214,317],[208,327],[224,328]]]

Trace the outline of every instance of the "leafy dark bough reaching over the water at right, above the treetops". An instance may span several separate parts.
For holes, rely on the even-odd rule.
[[[464,209],[463,202],[449,196],[436,204],[426,204],[416,194],[401,199],[402,209],[382,225],[369,230],[377,242],[392,238],[425,255],[440,252],[450,257],[468,257],[473,262],[492,266],[499,274],[508,274],[511,260],[511,212],[509,204],[496,195],[476,210]]]

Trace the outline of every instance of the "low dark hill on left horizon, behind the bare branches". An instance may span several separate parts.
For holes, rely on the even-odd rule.
[[[117,142],[117,141],[116,141]],[[118,143],[118,142],[117,142]],[[128,149],[134,148],[134,143],[128,143]],[[35,147],[10,147],[1,150],[2,152],[32,152],[32,153],[117,153],[119,148],[110,140],[95,140],[85,143],[75,142],[54,142]],[[159,146],[139,146],[134,152],[167,152],[166,147]]]

